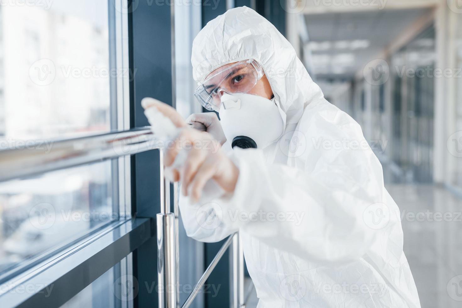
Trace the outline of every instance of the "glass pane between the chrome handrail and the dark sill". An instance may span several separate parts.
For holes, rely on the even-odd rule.
[[[118,219],[111,161],[0,183],[0,277]]]

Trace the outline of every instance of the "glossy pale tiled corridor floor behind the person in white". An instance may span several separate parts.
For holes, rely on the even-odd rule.
[[[422,308],[462,307],[462,199],[434,185],[387,189],[401,211],[404,252]],[[254,288],[246,308],[257,302]]]

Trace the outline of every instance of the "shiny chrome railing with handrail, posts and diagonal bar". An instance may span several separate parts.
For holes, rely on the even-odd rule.
[[[132,155],[158,149],[150,127],[140,127],[122,132],[109,132],[73,139],[52,141],[48,149],[39,144],[28,144],[27,148],[0,150],[0,181],[25,178],[45,172],[71,168],[87,163]],[[159,155],[163,165],[163,155]],[[179,308],[179,243],[178,243],[178,198],[174,212],[170,211],[170,182],[160,168],[160,213],[157,214],[158,285],[161,308]],[[213,258],[207,270],[195,285],[188,299],[181,306],[188,308],[200,293],[210,273],[226,249],[231,247],[230,279],[231,308],[244,308],[243,252],[237,233],[228,237]]]

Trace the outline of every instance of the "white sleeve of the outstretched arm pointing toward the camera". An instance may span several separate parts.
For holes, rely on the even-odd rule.
[[[354,260],[384,231],[365,215],[387,193],[359,125],[327,104],[305,110],[298,138],[304,135],[306,148],[289,159],[292,166],[267,163],[260,150],[234,150],[237,187],[217,203],[227,225],[275,248],[310,260]]]

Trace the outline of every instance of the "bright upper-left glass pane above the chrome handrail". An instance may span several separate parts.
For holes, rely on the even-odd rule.
[[[107,0],[0,6],[0,143],[109,130],[108,24]]]

